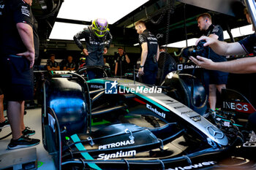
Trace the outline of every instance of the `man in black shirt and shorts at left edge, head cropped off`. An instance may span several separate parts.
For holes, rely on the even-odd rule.
[[[39,139],[29,136],[23,123],[24,101],[33,100],[33,65],[35,58],[33,31],[34,17],[31,13],[32,0],[5,1],[1,18],[0,76],[3,77],[4,98],[7,99],[7,116],[12,129],[12,139],[8,149],[31,147],[39,144]],[[38,42],[37,42],[38,43]]]

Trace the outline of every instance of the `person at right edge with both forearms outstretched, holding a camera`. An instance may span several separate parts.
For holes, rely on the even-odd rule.
[[[245,14],[249,23],[252,23],[246,10]],[[252,29],[255,30],[255,28]],[[204,46],[211,47],[211,49],[219,55],[245,55],[249,53],[254,53],[254,55],[256,55],[256,34],[249,35],[239,42],[233,43],[221,42],[208,36],[201,36],[199,39],[197,39],[196,45],[200,40],[205,40],[206,43]],[[237,74],[256,72],[256,57],[241,58],[238,60],[217,63],[211,59],[203,58],[200,56],[197,56],[197,58],[191,56],[190,60],[205,69],[219,70],[222,72]],[[256,132],[256,112],[249,116],[249,124],[252,126],[253,131]]]

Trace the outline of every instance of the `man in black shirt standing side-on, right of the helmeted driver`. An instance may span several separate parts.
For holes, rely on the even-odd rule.
[[[157,79],[157,61],[159,58],[159,46],[156,36],[147,30],[145,22],[135,23],[135,29],[139,34],[139,42],[142,48],[139,74],[143,83],[154,85]]]

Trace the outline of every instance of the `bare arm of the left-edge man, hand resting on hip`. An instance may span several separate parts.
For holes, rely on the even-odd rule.
[[[26,52],[18,53],[17,55],[25,56],[30,61],[30,68],[34,66],[34,37],[33,28],[26,23],[17,23],[16,27],[23,44],[26,47]]]

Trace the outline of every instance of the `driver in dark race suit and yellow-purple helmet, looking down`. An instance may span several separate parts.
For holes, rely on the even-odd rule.
[[[94,20],[91,26],[84,28],[73,39],[75,44],[83,50],[83,53],[88,55],[86,66],[104,66],[103,54],[108,53],[108,48],[112,42],[107,20],[100,18]],[[80,39],[86,39],[86,47],[83,47]],[[94,79],[94,72],[89,71],[88,77],[89,80]]]

